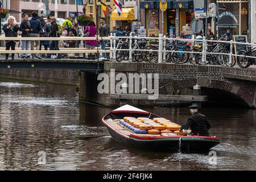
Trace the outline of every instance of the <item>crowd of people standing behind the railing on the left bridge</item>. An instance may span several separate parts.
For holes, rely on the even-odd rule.
[[[108,25],[105,23],[105,18],[100,18],[100,36],[108,36]],[[57,23],[54,16],[48,16],[47,19],[38,18],[38,14],[34,11],[32,13],[32,18],[29,19],[27,14],[23,15],[23,21],[20,23],[20,26],[16,23],[14,16],[9,16],[5,24],[3,25],[2,30],[5,32],[6,37],[16,37],[18,36],[18,31],[21,32],[22,37],[60,37],[60,36],[89,36],[95,37],[97,34],[97,27],[93,20],[90,20],[87,26],[80,27],[73,17],[66,19],[62,24]],[[16,40],[6,40],[6,50],[15,50]],[[85,40],[84,47],[88,49],[94,49],[97,46],[97,40]],[[22,40],[21,47],[23,50],[59,50],[60,48],[79,48],[81,44],[80,40]],[[101,49],[105,49],[106,40],[100,40]],[[77,54],[76,54],[77,55]],[[69,53],[68,56],[76,56],[73,53]],[[31,54],[22,53],[22,59],[42,59],[43,58],[52,58],[52,59],[61,59],[63,54]],[[89,53],[86,59],[95,59],[96,56],[93,53]],[[9,53],[6,53],[6,60],[9,59]],[[14,53],[11,54],[11,59],[14,60]],[[102,53],[101,60],[106,59],[106,53]]]

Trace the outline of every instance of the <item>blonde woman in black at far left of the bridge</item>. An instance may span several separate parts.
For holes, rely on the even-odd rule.
[[[9,18],[7,18],[5,24],[3,25],[2,30],[5,32],[6,37],[16,37],[18,35],[19,26],[16,23],[16,19],[14,18],[14,16],[9,16]],[[10,50],[10,48],[12,50],[15,50],[15,44],[16,44],[15,40],[6,40],[5,41],[6,50]],[[8,60],[8,57],[9,57],[9,53],[6,53],[5,60]],[[14,53],[11,54],[11,59],[14,60]]]

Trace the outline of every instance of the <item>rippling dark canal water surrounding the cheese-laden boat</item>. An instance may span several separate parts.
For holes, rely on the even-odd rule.
[[[256,169],[255,110],[204,107],[210,134],[221,141],[209,155],[144,151],[118,143],[101,122],[112,109],[79,102],[74,86],[1,79],[0,169]],[[143,109],[179,124],[189,117],[186,108]]]

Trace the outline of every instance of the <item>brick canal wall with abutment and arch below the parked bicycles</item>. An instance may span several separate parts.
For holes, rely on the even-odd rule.
[[[114,70],[114,73],[112,73]],[[207,96],[209,101],[224,102],[226,104],[255,107],[256,72],[254,69],[228,68],[217,65],[192,65],[192,64],[165,64],[165,63],[104,63],[105,93],[98,93],[96,73],[80,73],[79,100],[93,102],[104,106],[119,106],[131,104],[135,106],[153,105],[180,105],[182,101],[167,100],[122,100],[112,97],[111,87],[116,85],[111,79],[118,73],[142,73],[146,76],[151,73],[159,74],[160,95],[193,95],[193,86],[201,86],[201,94]],[[129,85],[129,80],[127,80]],[[134,82],[134,88],[136,83]],[[137,83],[138,84],[138,83]],[[141,88],[141,82],[138,84]],[[137,85],[137,86],[138,86]],[[153,79],[154,87],[154,79]]]

